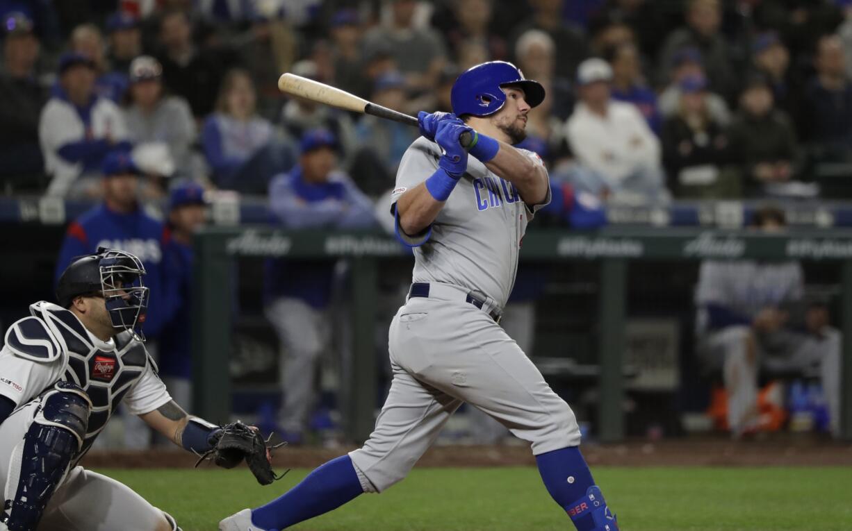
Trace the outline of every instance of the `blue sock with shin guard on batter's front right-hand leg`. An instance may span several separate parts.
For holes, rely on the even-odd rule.
[[[578,447],[561,448],[535,459],[547,492],[565,509],[578,531],[618,531]]]

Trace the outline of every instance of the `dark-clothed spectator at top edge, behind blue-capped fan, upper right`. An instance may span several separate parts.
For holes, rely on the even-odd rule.
[[[672,31],[666,38],[659,58],[660,78],[671,70],[677,52],[684,48],[699,49],[704,69],[713,92],[726,100],[734,100],[737,91],[734,55],[722,37],[722,5],[719,0],[689,0],[686,11],[687,26]]]

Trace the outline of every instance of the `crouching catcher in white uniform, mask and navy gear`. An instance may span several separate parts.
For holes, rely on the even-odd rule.
[[[246,460],[272,482],[255,428],[188,415],[158,378],[141,335],[148,288],[133,254],[99,248],[62,273],[58,305],[30,305],[0,351],[0,531],[176,531],[175,519],[130,488],[83,469],[119,403],[154,430],[216,465]],[[97,500],[109,500],[95,504]]]

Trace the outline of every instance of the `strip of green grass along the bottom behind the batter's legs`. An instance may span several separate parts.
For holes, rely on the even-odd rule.
[[[101,470],[174,515],[184,531],[283,493],[308,471],[260,487],[248,471]],[[852,469],[609,468],[597,482],[622,531],[850,531]],[[534,468],[416,469],[384,494],[361,496],[301,531],[573,529]]]

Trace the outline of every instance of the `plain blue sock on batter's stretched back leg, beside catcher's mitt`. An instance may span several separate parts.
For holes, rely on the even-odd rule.
[[[251,511],[251,521],[262,529],[284,529],[318,517],[364,493],[348,455],[331,460],[308,474],[276,500]]]

